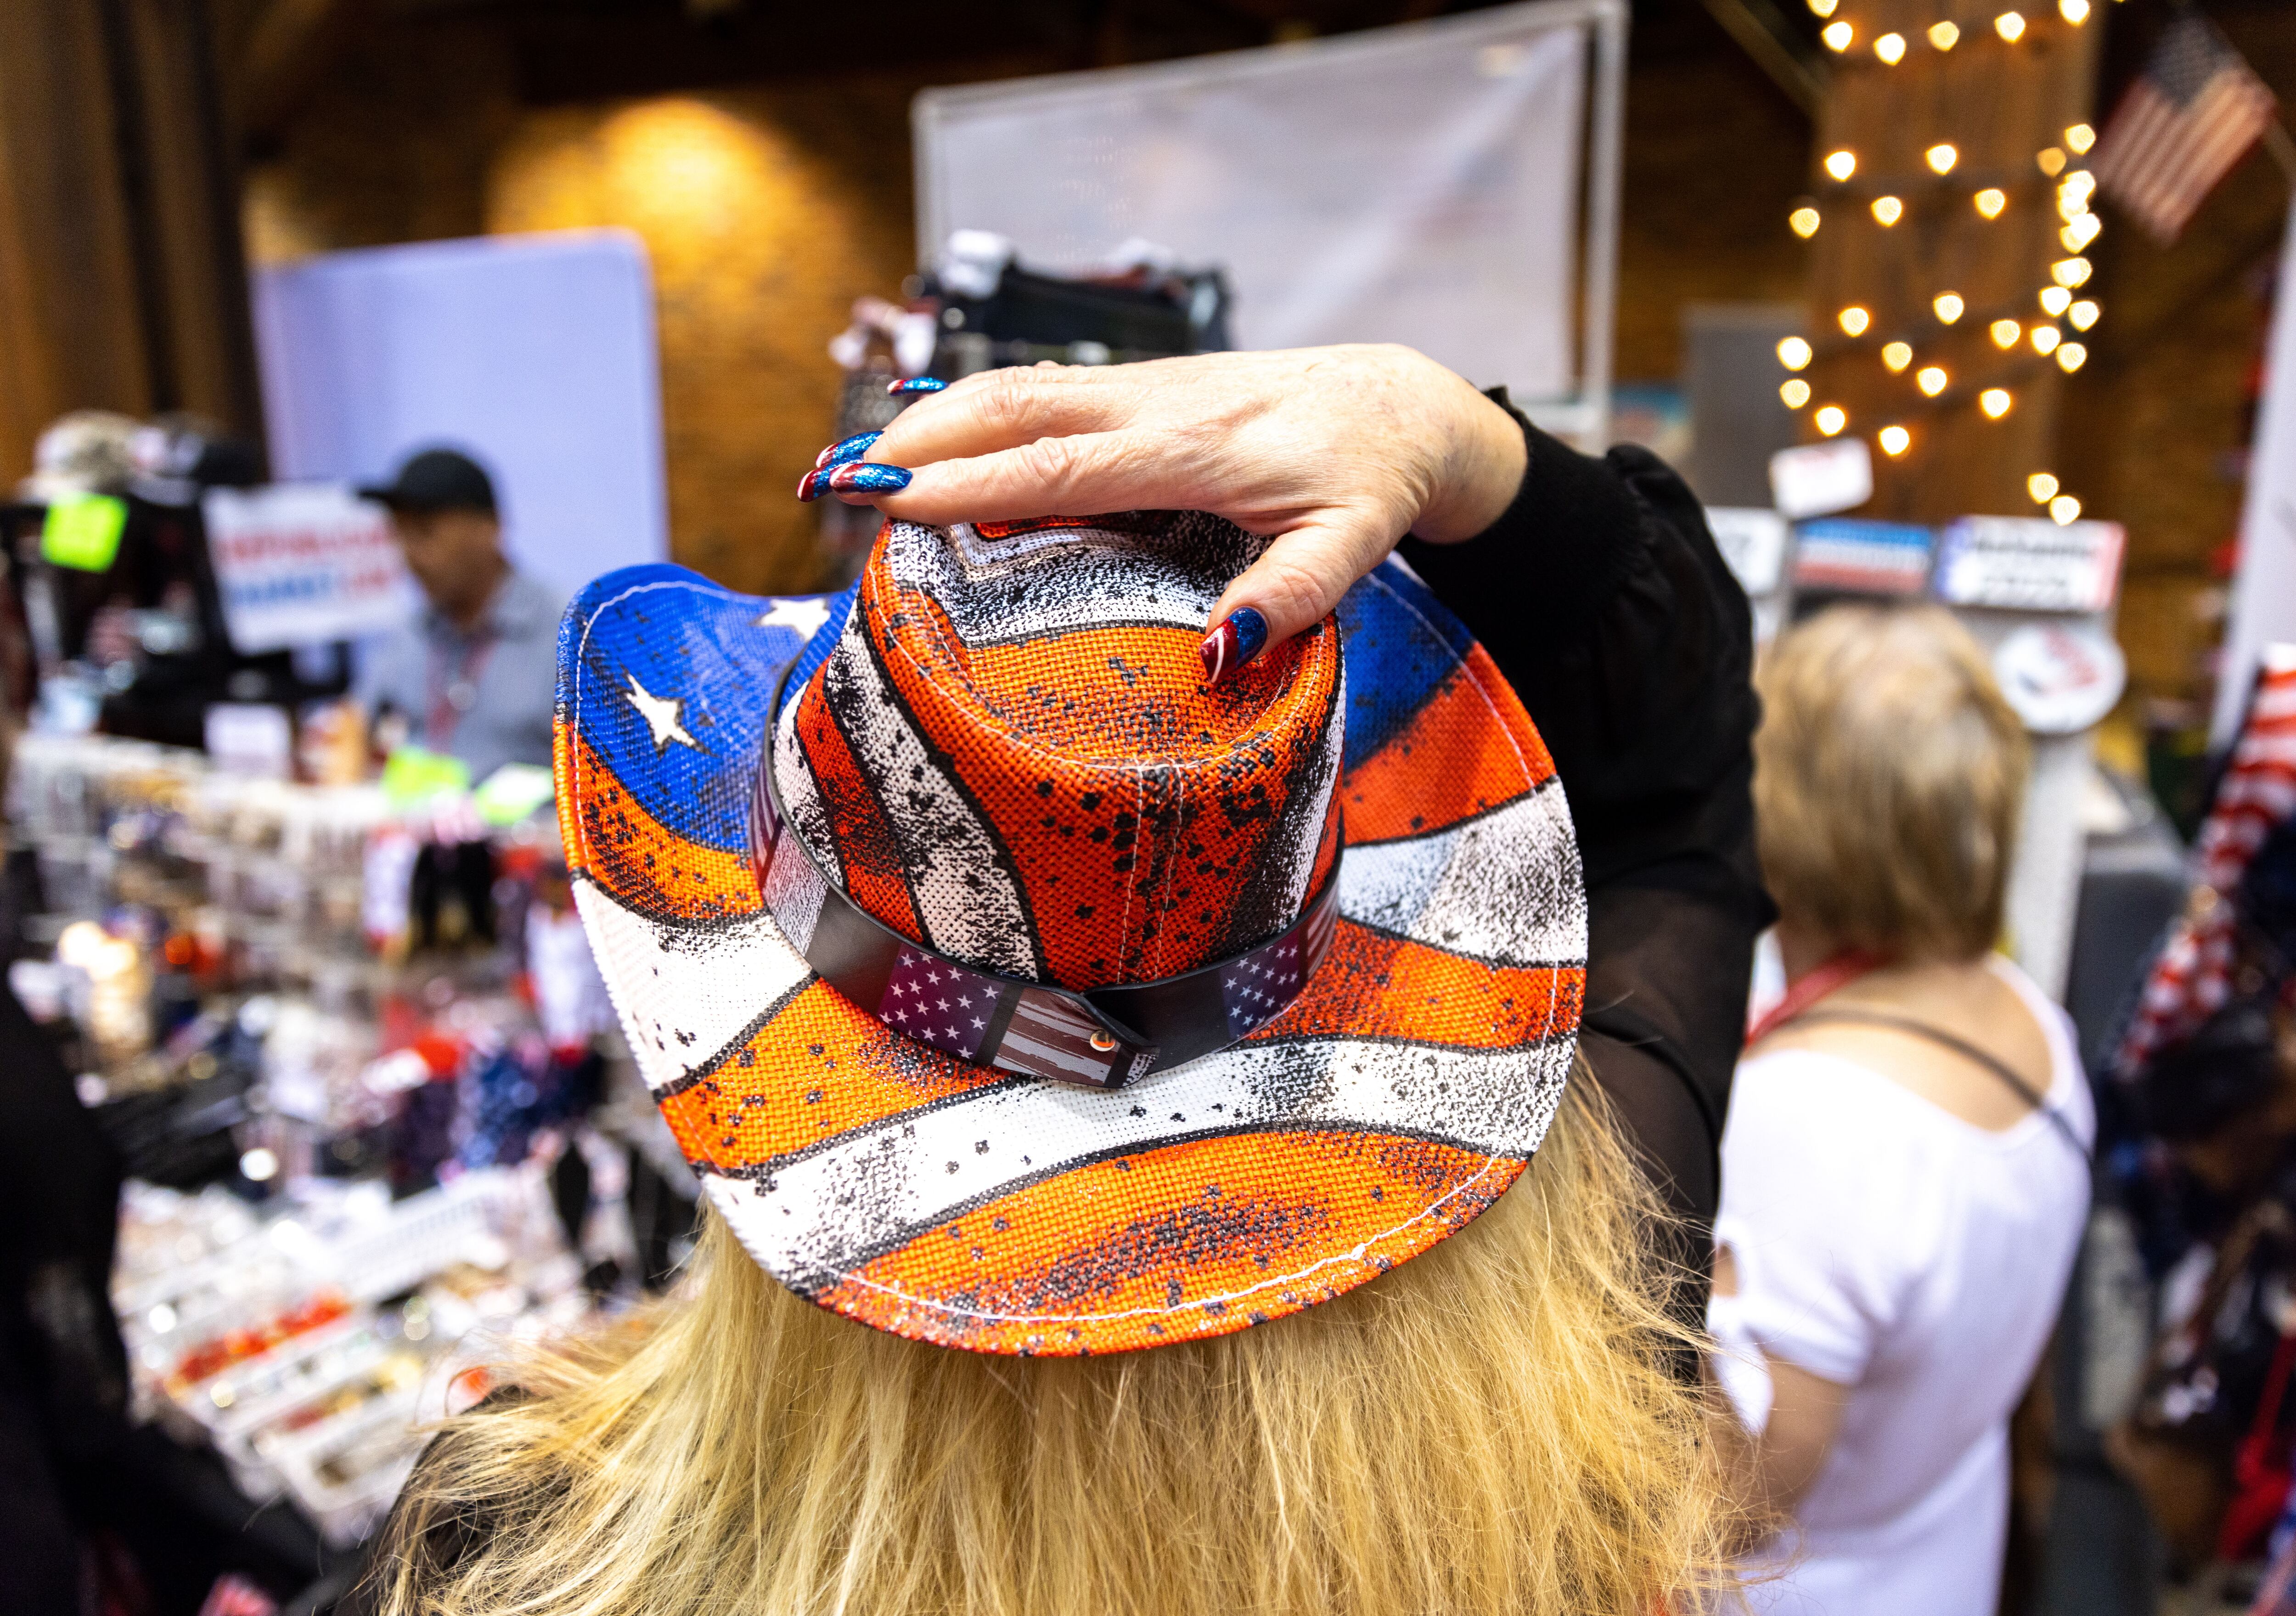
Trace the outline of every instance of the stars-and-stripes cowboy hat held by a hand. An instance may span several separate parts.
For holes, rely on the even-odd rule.
[[[1561,1100],[1554,764],[1398,562],[1208,684],[1199,514],[886,523],[843,595],[592,583],[558,813],[636,1060],[790,1290],[980,1352],[1297,1313],[1426,1251]]]

